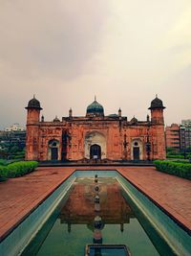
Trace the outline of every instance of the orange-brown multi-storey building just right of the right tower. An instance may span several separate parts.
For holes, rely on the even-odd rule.
[[[166,148],[180,151],[180,126],[172,124],[165,128]]]

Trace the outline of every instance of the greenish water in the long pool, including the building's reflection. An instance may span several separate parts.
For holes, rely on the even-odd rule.
[[[102,244],[126,244],[134,256],[174,255],[156,231],[149,228],[146,221],[141,222],[141,215],[136,209],[133,211],[127,198],[122,196],[116,179],[99,178],[98,187],[100,212],[95,211],[94,179],[78,178],[64,205],[54,212],[22,255],[83,256],[86,244],[94,244],[97,235],[94,220],[97,215],[102,220],[98,230]],[[148,227],[148,235],[139,221],[145,224],[144,228]],[[157,244],[160,254],[154,244]],[[114,255],[121,254],[116,252]]]

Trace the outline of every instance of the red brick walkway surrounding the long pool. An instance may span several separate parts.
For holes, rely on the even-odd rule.
[[[76,168],[41,167],[30,175],[0,183],[0,241]],[[159,173],[153,167],[81,167],[117,169],[191,231],[191,181]]]

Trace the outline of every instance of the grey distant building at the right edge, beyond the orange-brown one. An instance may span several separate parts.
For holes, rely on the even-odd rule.
[[[180,150],[191,150],[191,119],[182,120],[180,125]]]

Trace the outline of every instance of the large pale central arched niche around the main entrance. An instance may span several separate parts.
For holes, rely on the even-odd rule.
[[[98,131],[91,131],[88,132],[85,136],[85,142],[84,142],[84,148],[85,148],[85,158],[90,159],[94,158],[93,151],[97,151],[97,158],[99,158],[99,151],[100,151],[100,158],[104,159],[106,158],[106,138],[105,136],[98,132]],[[100,147],[100,148],[99,148]],[[99,150],[98,150],[99,148]],[[95,154],[96,155],[96,154]]]

